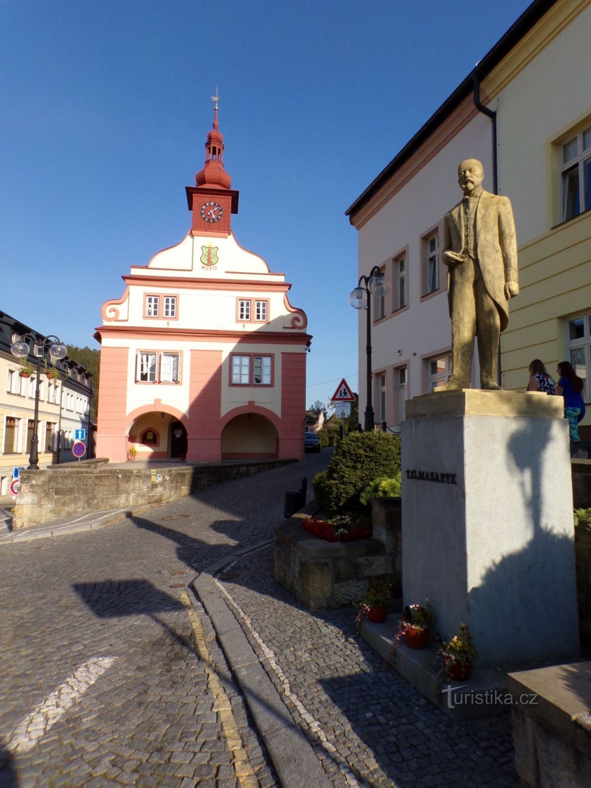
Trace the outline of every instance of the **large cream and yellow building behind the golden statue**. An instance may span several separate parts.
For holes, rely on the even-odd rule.
[[[359,232],[359,276],[380,266],[391,282],[372,299],[373,406],[390,429],[400,429],[404,400],[451,372],[440,244],[444,214],[462,196],[456,168],[465,158],[483,163],[484,188],[507,195],[515,214],[521,292],[501,338],[504,388],[525,390],[534,358],[552,374],[556,362],[572,360],[589,378],[589,5],[533,2],[347,211]],[[365,324],[360,314],[361,370]],[[360,376],[360,411],[364,384]]]

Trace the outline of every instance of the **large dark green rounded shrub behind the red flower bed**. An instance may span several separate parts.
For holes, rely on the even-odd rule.
[[[328,470],[314,478],[316,503],[325,515],[366,513],[359,496],[377,478],[400,476],[400,437],[351,433],[336,447]]]

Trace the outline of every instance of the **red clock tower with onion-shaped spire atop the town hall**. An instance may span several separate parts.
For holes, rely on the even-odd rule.
[[[228,236],[230,215],[238,213],[238,192],[230,188],[232,178],[224,169],[224,136],[217,130],[217,93],[212,99],[214,128],[207,134],[205,164],[195,175],[197,185],[186,188],[193,214],[191,233],[195,236]]]

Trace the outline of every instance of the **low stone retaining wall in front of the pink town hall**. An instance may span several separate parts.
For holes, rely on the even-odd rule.
[[[100,462],[100,461],[99,461]],[[143,504],[165,504],[197,489],[257,474],[291,460],[180,465],[153,468],[110,468],[97,461],[57,465],[21,472],[13,528]]]

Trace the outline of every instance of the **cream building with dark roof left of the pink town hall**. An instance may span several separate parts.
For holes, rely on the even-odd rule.
[[[85,429],[88,435],[93,396],[91,374],[68,357],[56,363],[59,379],[50,362],[42,361],[38,384],[33,348],[22,364],[10,352],[16,337],[24,334],[35,336],[40,345],[48,344],[43,335],[0,313],[0,497],[5,499],[14,468],[28,466],[37,385],[39,467],[76,459],[71,451],[76,429]]]

